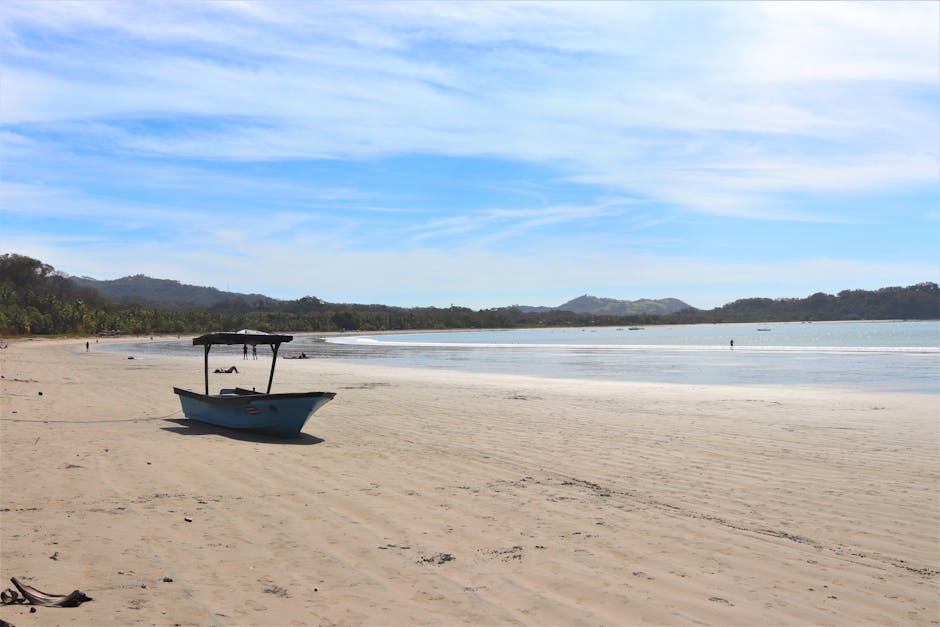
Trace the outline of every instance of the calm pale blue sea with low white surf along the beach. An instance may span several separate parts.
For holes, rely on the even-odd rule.
[[[121,346],[202,354],[191,338]],[[240,347],[212,350],[241,357]],[[940,393],[936,320],[298,335],[281,348],[282,355],[300,351],[337,361],[566,379]]]

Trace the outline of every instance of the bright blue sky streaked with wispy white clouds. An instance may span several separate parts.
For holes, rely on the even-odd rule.
[[[940,3],[6,2],[0,252],[711,308],[940,278]]]

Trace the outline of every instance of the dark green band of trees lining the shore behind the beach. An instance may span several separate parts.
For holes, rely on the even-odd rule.
[[[171,308],[158,302],[114,303],[80,287],[31,257],[0,255],[0,333],[97,335],[263,331],[389,331],[412,329],[628,326],[719,322],[929,320],[940,317],[936,283],[879,290],[817,293],[807,298],[747,298],[708,311],[612,316],[501,307],[389,307],[333,304],[307,296],[293,301],[232,299],[208,307]]]

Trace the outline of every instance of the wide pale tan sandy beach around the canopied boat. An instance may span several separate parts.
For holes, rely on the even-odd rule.
[[[284,441],[185,420],[195,357],[0,360],[0,587],[94,599],[15,625],[940,623],[937,395],[289,360]]]

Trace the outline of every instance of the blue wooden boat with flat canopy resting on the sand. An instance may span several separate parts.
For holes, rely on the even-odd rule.
[[[237,332],[208,333],[193,338],[193,346],[202,346],[205,363],[205,393],[173,388],[180,397],[183,415],[190,420],[218,427],[261,433],[275,437],[298,437],[318,409],[333,399],[334,392],[280,392],[271,393],[277,351],[281,344],[294,339],[292,335],[278,335],[243,329]],[[265,392],[254,389],[222,388],[218,394],[209,394],[209,351],[215,344],[241,344],[246,348],[258,344],[271,347],[271,374]]]

